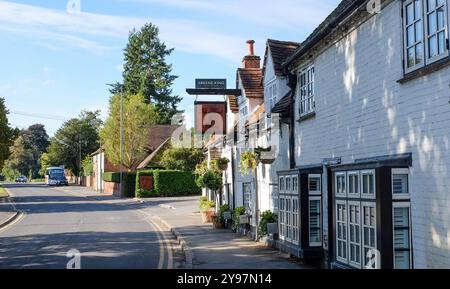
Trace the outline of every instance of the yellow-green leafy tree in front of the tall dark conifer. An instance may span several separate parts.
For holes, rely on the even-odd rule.
[[[127,94],[123,97],[123,162],[131,171],[146,157],[150,126],[157,121],[153,105],[145,102],[142,94]],[[100,132],[101,141],[108,160],[120,165],[120,95],[111,97],[109,117]]]

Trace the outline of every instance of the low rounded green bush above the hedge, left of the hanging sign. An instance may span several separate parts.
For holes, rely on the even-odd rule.
[[[161,165],[170,170],[193,172],[204,159],[201,149],[169,148],[163,153]]]

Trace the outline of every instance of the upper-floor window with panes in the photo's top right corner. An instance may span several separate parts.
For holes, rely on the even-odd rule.
[[[405,72],[448,57],[447,0],[403,3]]]

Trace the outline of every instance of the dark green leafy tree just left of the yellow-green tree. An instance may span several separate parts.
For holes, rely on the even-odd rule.
[[[50,139],[48,153],[41,156],[41,172],[48,166],[64,165],[80,176],[82,160],[99,148],[101,125],[100,111],[83,111],[66,121]]]

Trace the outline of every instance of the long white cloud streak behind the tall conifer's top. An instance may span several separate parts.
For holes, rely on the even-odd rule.
[[[129,31],[148,21],[159,27],[161,39],[177,51],[208,54],[234,61],[242,55],[239,48],[242,48],[244,38],[211,30],[195,21],[67,13],[0,1],[0,31],[37,39],[39,45],[52,50],[74,47],[103,53],[110,49],[121,49],[120,45],[126,41]],[[227,49],[224,49],[224,44]]]

